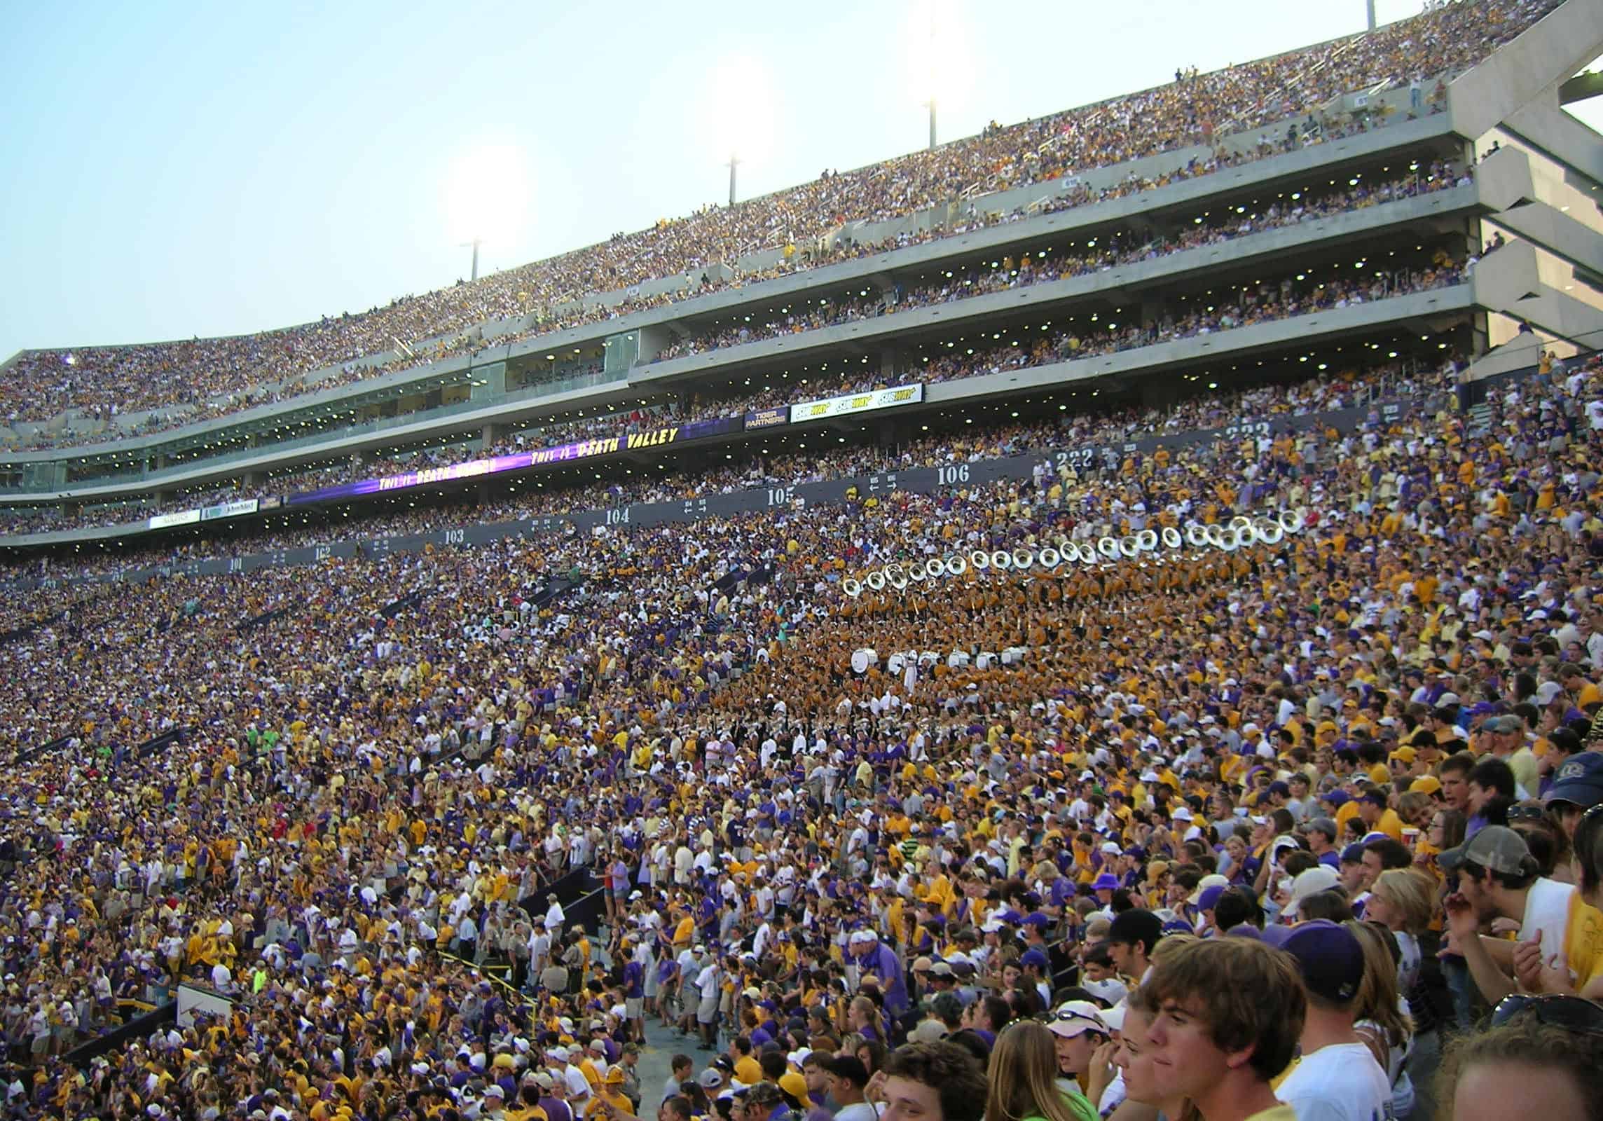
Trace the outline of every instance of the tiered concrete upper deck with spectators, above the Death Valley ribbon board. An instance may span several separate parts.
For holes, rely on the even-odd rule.
[[[1459,111],[1457,91],[1467,82],[1473,83],[1481,71],[1496,67],[1465,71],[1508,45],[1540,16],[1553,13],[1555,6],[1448,5],[1372,35],[1292,51],[1015,128],[991,130],[933,154],[902,157],[731,210],[664,223],[608,245],[524,266],[478,285],[399,301],[365,316],[269,332],[250,340],[29,351],[8,367],[10,388],[0,386],[0,391],[14,396],[16,385],[30,378],[32,399],[56,401],[50,393],[38,393],[38,382],[55,377],[58,385],[71,382],[77,386],[72,393],[88,395],[71,399],[77,409],[69,417],[71,428],[58,417],[48,425],[51,433],[95,430],[112,435],[128,431],[130,420],[135,420],[131,430],[141,433],[168,422],[189,423],[167,435],[80,447],[71,457],[51,452],[5,457],[0,460],[0,480],[11,486],[0,494],[34,507],[42,502],[71,504],[46,518],[30,515],[24,523],[30,529],[43,528],[40,523],[95,524],[117,518],[104,512],[82,516],[77,510],[80,504],[135,499],[155,512],[240,494],[276,497],[290,488],[277,486],[273,476],[359,470],[351,467],[353,452],[369,457],[375,451],[422,452],[438,460],[439,452],[428,451],[436,444],[462,449],[471,441],[481,449],[492,449],[518,425],[571,425],[583,415],[580,411],[590,412],[592,419],[598,411],[640,406],[683,414],[713,385],[728,393],[729,386],[753,377],[753,362],[757,374],[769,377],[789,374],[781,366],[797,359],[824,362],[819,369],[835,362],[832,374],[837,374],[850,354],[869,367],[858,374],[877,375],[874,380],[880,383],[907,380],[901,377],[906,370],[899,369],[906,332],[917,337],[919,329],[943,316],[943,326],[957,322],[949,308],[907,310],[898,297],[909,276],[939,269],[941,265],[951,269],[983,265],[987,257],[1032,250],[1064,234],[1085,237],[1090,244],[1098,233],[1125,242],[1141,234],[1154,242],[1172,242],[1181,223],[1204,221],[1202,215],[1220,202],[1258,207],[1260,194],[1297,186],[1306,189],[1321,176],[1334,186],[1339,173],[1379,178],[1382,168],[1395,173],[1391,164],[1396,160],[1473,162],[1492,146],[1496,136],[1483,120],[1475,122],[1475,135],[1464,135],[1459,120],[1473,114]],[[1534,43],[1547,51],[1540,56],[1544,66],[1568,75],[1574,66],[1548,58],[1552,43],[1582,42],[1595,32],[1597,5],[1571,0],[1553,14],[1565,26],[1544,21],[1536,35],[1528,35],[1510,50],[1529,55]],[[1520,90],[1504,90],[1502,95],[1510,109],[1531,101]],[[1496,101],[1478,95],[1478,107],[1488,99]],[[1122,127],[1133,119],[1140,119],[1145,128],[1130,133]],[[1494,114],[1492,120],[1500,120],[1500,115]],[[1476,170],[1476,183],[1454,200],[1457,208],[1451,215],[1443,215],[1438,207],[1428,221],[1420,213],[1399,220],[1390,231],[1396,244],[1417,244],[1423,231],[1436,237],[1446,234],[1446,257],[1464,261],[1492,236],[1491,229],[1481,228],[1483,220],[1508,205],[1523,199],[1550,199],[1550,205],[1544,202],[1544,207],[1560,213],[1568,196],[1561,200],[1561,191],[1552,186],[1552,148],[1545,149],[1545,156],[1510,151],[1513,148],[1508,141],[1499,146],[1497,175],[1489,183],[1486,173],[1491,168]],[[1576,181],[1574,176],[1569,180]],[[1536,186],[1524,189],[1528,183]],[[1568,183],[1563,189],[1576,192]],[[856,213],[846,207],[848,199],[858,200]],[[1582,210],[1590,213],[1577,210],[1576,217],[1565,207],[1566,220],[1589,229],[1603,228],[1590,197],[1585,202]],[[774,220],[774,215],[782,218]],[[1350,215],[1345,226],[1316,223],[1314,229],[1300,229],[1290,249],[1303,250],[1321,237],[1332,242],[1351,239],[1350,226],[1356,220]],[[1363,220],[1372,223],[1374,217],[1363,215]],[[1512,223],[1504,225],[1513,231]],[[1577,337],[1593,326],[1590,308],[1577,306],[1576,297],[1558,295],[1573,282],[1565,266],[1590,263],[1576,261],[1577,255],[1585,255],[1576,247],[1590,250],[1592,242],[1565,237],[1565,231],[1548,231],[1545,239],[1520,233],[1540,247],[1539,252],[1529,260],[1500,255],[1502,276],[1488,277],[1483,269],[1467,290],[1470,301],[1462,308],[1462,319],[1478,332],[1476,348],[1484,348],[1488,332],[1497,334],[1486,324],[1488,311],[1496,314],[1521,300],[1524,306],[1520,311],[1534,310],[1526,300],[1532,284],[1547,303],[1553,303],[1547,297],[1557,295],[1558,306],[1548,308],[1552,314],[1545,322],[1523,316],[1526,321],[1557,337]],[[1592,237],[1595,241],[1595,234]],[[1454,239],[1457,247],[1446,247]],[[1557,269],[1547,253],[1553,244],[1565,247]],[[1255,252],[1258,260],[1273,260],[1276,252],[1286,249],[1284,242],[1266,237]],[[1252,250],[1241,239],[1221,252],[1252,258]],[[1595,257],[1603,271],[1603,253]],[[1164,271],[1153,261],[1137,265]],[[1215,265],[1197,253],[1189,258],[1177,253],[1169,279],[1183,287],[1180,274],[1185,269]],[[652,271],[673,274],[665,282],[656,282],[646,276]],[[691,273],[689,279],[684,271]],[[1129,276],[1130,269],[1117,279],[1127,281]],[[771,311],[787,300],[808,300],[824,292],[832,303],[838,303],[842,297],[834,289],[848,285],[853,295],[866,293],[869,303],[880,297],[874,311],[880,322],[810,332],[806,343],[811,350],[798,348],[800,340],[784,338],[766,348],[736,346],[651,361],[672,354],[675,346],[683,346],[709,327]],[[1084,297],[1098,287],[1104,295],[1127,295],[1114,292],[1108,276],[1093,274],[1060,279],[1024,297],[1047,306],[1047,301],[1066,300],[1064,292]],[[585,290],[592,295],[583,300],[563,303],[558,298]],[[1156,297],[1156,292],[1151,282],[1145,284],[1143,298],[1151,314],[1143,318],[1149,322],[1162,318],[1167,298]],[[507,303],[508,298],[527,301],[515,308]],[[981,319],[1000,316],[1003,305],[1003,298],[965,303],[970,327],[978,329]],[[465,310],[470,306],[471,316]],[[1114,306],[1109,300],[1108,311]],[[1385,327],[1395,330],[1404,322],[1399,319]],[[999,327],[1007,329],[1005,322]],[[407,353],[377,353],[385,337],[418,342],[407,343]],[[959,342],[957,335],[949,335],[936,345]],[[779,359],[781,350],[785,351],[784,361]],[[332,370],[314,369],[330,356],[346,361]],[[1172,358],[1196,361],[1201,356],[1197,345],[1189,354]],[[433,361],[418,364],[418,359]],[[763,359],[768,361],[766,369]],[[1169,369],[1173,369],[1172,362]],[[96,375],[93,383],[87,378],[91,372]],[[271,382],[285,374],[293,385]],[[144,388],[188,385],[194,390],[192,406],[180,412],[168,407],[152,423],[155,414],[141,417],[131,407],[152,404],[131,391],[135,383]],[[200,395],[212,388],[226,390],[226,398],[202,401]],[[85,427],[82,409],[96,407],[95,395],[103,398],[98,403],[101,417]],[[240,412],[250,404],[250,395],[274,403]],[[810,395],[800,391],[789,396],[790,404],[808,399]],[[19,409],[13,409],[13,417],[19,438],[42,431],[22,425]],[[194,423],[199,417],[223,419]],[[462,454],[449,459],[462,459]],[[385,473],[385,467],[367,473]],[[146,510],[138,513],[143,518]]]

